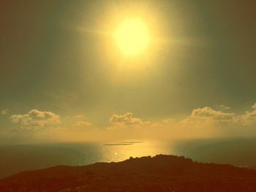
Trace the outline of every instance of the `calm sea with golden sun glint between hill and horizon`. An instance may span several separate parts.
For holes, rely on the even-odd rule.
[[[184,155],[208,163],[255,166],[255,151],[256,139],[4,145],[0,146],[0,177],[49,166],[82,166],[157,154]]]

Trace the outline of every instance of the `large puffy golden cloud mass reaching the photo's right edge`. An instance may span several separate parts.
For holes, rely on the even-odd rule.
[[[211,107],[192,110],[191,115],[178,123],[183,127],[201,130],[211,128],[211,131],[221,137],[242,137],[256,135],[256,103],[252,110],[237,114],[235,112],[222,112]],[[204,128],[204,129],[203,129]]]

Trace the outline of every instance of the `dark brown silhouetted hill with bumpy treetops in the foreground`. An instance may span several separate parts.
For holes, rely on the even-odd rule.
[[[156,155],[21,172],[1,179],[0,191],[256,191],[256,171]]]

